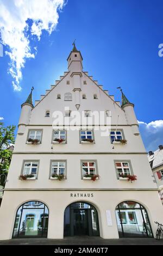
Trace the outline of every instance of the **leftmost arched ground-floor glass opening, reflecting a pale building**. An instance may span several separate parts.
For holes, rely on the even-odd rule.
[[[12,237],[47,237],[49,211],[38,201],[24,203],[17,210]]]

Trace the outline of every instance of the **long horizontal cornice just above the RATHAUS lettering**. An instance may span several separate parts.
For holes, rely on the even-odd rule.
[[[3,191],[158,191],[158,188],[4,188]]]

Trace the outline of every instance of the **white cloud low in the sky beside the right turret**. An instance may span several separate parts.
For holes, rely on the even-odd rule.
[[[163,144],[163,120],[155,120],[150,123],[138,121],[141,136],[147,151],[156,150]]]

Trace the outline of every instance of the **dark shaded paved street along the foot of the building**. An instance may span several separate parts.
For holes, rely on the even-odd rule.
[[[0,241],[0,245],[163,245],[152,238],[102,239],[101,237],[76,236],[64,239],[12,239]]]

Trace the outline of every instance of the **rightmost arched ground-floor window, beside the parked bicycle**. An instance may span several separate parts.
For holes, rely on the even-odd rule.
[[[118,204],[116,219],[120,237],[153,237],[147,211],[137,202]]]

